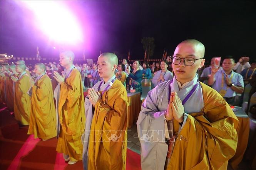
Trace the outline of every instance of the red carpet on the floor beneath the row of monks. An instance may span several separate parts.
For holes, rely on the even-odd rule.
[[[6,110],[2,110],[2,114]],[[7,116],[6,121],[13,121],[13,116]],[[12,120],[11,120],[12,119]],[[12,129],[0,138],[0,169],[1,170],[82,170],[82,161],[68,165],[62,154],[55,151],[57,139],[48,141],[34,139],[27,135],[28,126]],[[127,149],[127,170],[140,170],[140,155]]]

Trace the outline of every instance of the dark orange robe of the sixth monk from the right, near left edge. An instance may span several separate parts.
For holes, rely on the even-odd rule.
[[[15,76],[15,75],[14,75]],[[6,106],[10,112],[14,112],[15,83],[10,77],[6,78]]]

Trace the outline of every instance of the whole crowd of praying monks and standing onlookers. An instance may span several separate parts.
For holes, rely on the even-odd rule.
[[[60,52],[60,63],[37,63],[34,68],[23,60],[1,64],[1,103],[20,124],[29,126],[28,134],[43,140],[57,136],[56,150],[69,164],[83,160],[84,169],[122,169],[127,92],[132,87],[142,93],[142,81],[147,79],[152,90],[137,121],[142,169],[189,169],[198,162],[203,162],[199,169],[225,168],[237,145],[238,119],[229,105],[248,83],[253,87],[250,94],[255,92],[256,60],[241,57],[236,63],[234,57],[225,56],[215,67],[213,57],[206,65],[204,48],[197,40],[185,40],[168,60],[152,64],[139,60],[129,64],[126,59],[118,63],[115,54],[103,53],[97,63],[79,65],[73,64],[72,51]],[[146,139],[144,131],[156,140]],[[219,151],[220,156],[204,145],[229,149]]]

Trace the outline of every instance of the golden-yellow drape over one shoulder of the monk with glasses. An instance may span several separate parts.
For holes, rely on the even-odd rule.
[[[190,113],[186,124],[177,135],[168,170],[222,170],[226,169],[237,147],[239,121],[228,103],[209,86],[201,83],[204,108]]]

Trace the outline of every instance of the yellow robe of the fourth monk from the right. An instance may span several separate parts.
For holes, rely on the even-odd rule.
[[[45,140],[55,137],[56,111],[48,75],[43,75],[32,87],[31,105],[28,134]]]

